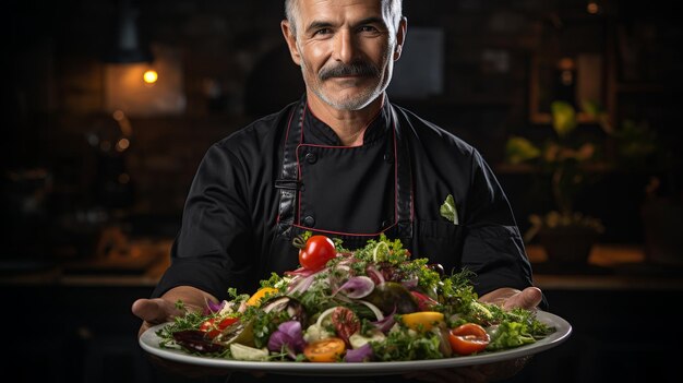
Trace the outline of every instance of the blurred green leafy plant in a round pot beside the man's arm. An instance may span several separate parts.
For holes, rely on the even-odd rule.
[[[549,262],[585,264],[604,227],[600,219],[576,211],[574,199],[588,181],[590,165],[597,164],[596,145],[572,134],[577,120],[571,104],[554,101],[551,113],[554,139],[539,147],[528,139],[512,136],[506,144],[506,160],[534,163],[549,177],[555,203],[555,210],[529,217],[531,227],[525,234],[525,241],[538,238]]]

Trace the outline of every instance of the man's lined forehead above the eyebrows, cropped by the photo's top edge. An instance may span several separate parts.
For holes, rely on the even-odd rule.
[[[344,23],[368,17],[385,19],[382,0],[299,0],[299,16],[303,27],[320,21]]]

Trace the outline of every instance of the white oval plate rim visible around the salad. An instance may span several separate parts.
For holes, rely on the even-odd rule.
[[[159,347],[160,338],[156,335],[156,332],[163,326],[167,325],[167,323],[158,324],[145,331],[140,337],[140,345],[145,351],[167,360],[233,371],[257,371],[289,375],[386,375],[405,373],[409,371],[446,369],[454,367],[492,363],[525,357],[559,346],[561,343],[566,340],[572,333],[572,325],[570,325],[567,321],[558,315],[539,310],[537,318],[539,321],[555,327],[555,332],[531,345],[525,345],[513,349],[468,357],[430,360],[362,363],[310,363],[288,361],[257,362],[211,357],[197,357],[189,355],[180,349]]]

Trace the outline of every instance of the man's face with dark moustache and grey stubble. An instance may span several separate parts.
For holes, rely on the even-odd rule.
[[[283,22],[309,97],[339,110],[359,110],[386,89],[400,56],[398,28],[381,0],[299,0],[296,27]],[[296,33],[296,35],[295,35]]]

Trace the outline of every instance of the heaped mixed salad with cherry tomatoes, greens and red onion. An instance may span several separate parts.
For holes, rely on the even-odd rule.
[[[536,343],[555,331],[525,309],[478,301],[472,272],[446,274],[381,236],[364,248],[304,234],[300,267],[253,295],[184,311],[159,347],[247,361],[374,362],[458,358]],[[179,309],[185,309],[178,301]]]

